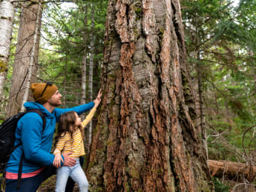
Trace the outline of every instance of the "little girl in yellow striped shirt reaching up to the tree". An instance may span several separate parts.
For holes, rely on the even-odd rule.
[[[88,180],[79,163],[79,157],[85,155],[84,148],[84,127],[90,122],[91,118],[100,104],[101,90],[97,99],[94,100],[94,108],[91,109],[88,116],[83,122],[75,111],[69,111],[61,115],[58,121],[58,135],[55,137],[55,159],[53,165],[59,167],[57,169],[57,179],[55,192],[65,191],[67,179],[70,176],[79,186],[79,191],[88,191]],[[67,154],[70,157],[76,158],[76,165],[73,167],[61,167],[61,154]],[[70,155],[71,154],[71,155]]]

